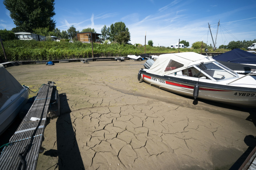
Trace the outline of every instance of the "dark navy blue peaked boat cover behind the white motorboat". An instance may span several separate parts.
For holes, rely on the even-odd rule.
[[[256,64],[256,55],[239,48],[212,57],[214,60],[230,63]]]

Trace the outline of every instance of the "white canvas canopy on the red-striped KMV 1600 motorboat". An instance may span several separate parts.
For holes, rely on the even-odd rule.
[[[171,60],[180,63],[181,67],[178,67],[176,69],[172,68],[172,70],[166,71],[166,68]],[[162,54],[162,55],[159,55],[159,57],[156,59],[156,61],[150,67],[150,69],[147,70],[147,72],[151,74],[164,76],[164,75],[175,73],[180,70],[184,70],[189,66],[200,64],[201,62],[208,63],[212,61],[215,61],[215,60],[213,59],[208,60],[206,56],[197,54],[194,52]]]

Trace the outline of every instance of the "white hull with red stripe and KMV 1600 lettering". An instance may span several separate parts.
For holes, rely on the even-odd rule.
[[[159,87],[186,96],[193,97],[194,86],[197,81],[172,78],[170,76],[157,76],[140,70],[141,79],[150,85]],[[255,88],[228,87],[228,85],[216,85],[198,82],[198,98],[226,103],[240,107],[256,107]]]

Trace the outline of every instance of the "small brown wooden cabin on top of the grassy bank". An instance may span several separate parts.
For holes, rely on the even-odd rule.
[[[100,39],[100,33],[92,33],[92,32],[84,32],[84,33],[76,33],[77,41],[83,42],[83,43],[102,43],[102,40]]]

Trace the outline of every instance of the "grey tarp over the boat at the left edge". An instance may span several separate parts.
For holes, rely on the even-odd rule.
[[[0,108],[6,100],[22,89],[22,85],[0,64]]]

